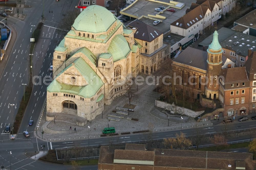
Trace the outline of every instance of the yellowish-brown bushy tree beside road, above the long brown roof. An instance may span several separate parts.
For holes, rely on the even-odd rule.
[[[183,149],[183,148],[190,147],[192,145],[191,140],[186,138],[185,133],[180,132],[180,135],[176,133],[175,136],[176,138],[164,139],[164,143],[168,148]]]

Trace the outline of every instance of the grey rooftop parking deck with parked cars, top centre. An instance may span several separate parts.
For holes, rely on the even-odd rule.
[[[167,1],[167,0],[162,0],[162,2],[170,3],[170,1]],[[186,9],[190,8],[190,5],[192,2],[196,3],[196,0],[179,1],[179,3],[185,4],[185,6],[182,9],[175,9],[176,12],[172,13],[170,11],[167,11],[168,5],[166,5],[166,4],[152,2],[152,1],[146,1],[146,0],[138,0],[134,3],[132,3],[129,8],[126,8],[126,9],[120,11],[120,13],[127,15],[127,16],[134,17],[134,18],[140,18],[142,16],[145,16],[145,17],[140,18],[139,20],[141,20],[142,22],[144,22],[148,25],[152,25],[152,26],[154,26],[153,22],[155,20],[160,20],[162,22],[159,23],[159,25],[157,25],[156,27],[159,31],[166,33],[168,31],[170,31],[170,24],[172,22],[176,21],[177,19],[179,19],[180,17],[182,17],[183,15],[186,14]],[[155,11],[155,8],[158,8],[159,6],[164,6],[166,8],[166,10],[164,10],[163,13],[159,13],[159,12]],[[173,8],[173,7],[170,7],[170,8]],[[160,16],[164,16],[165,19],[160,19],[157,17],[150,17],[152,19],[147,18],[148,15],[155,16],[156,14],[158,14]],[[159,27],[161,27],[161,29]]]

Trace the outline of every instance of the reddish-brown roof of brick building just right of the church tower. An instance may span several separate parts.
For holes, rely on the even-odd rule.
[[[249,81],[245,67],[234,67],[221,69],[219,76],[224,77],[224,83],[244,82]]]

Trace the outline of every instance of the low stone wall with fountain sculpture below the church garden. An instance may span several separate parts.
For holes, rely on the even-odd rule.
[[[198,115],[204,113],[204,111],[195,112],[195,111],[190,110],[188,108],[177,106],[174,103],[171,104],[171,103],[163,102],[163,101],[160,101],[160,100],[157,100],[156,104],[157,104],[157,107],[164,108],[165,110],[170,111],[172,114],[177,113],[177,114],[187,115],[187,116],[195,118]]]

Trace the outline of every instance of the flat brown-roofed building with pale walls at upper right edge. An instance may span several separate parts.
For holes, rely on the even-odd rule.
[[[256,36],[256,9],[234,21],[232,30]]]

